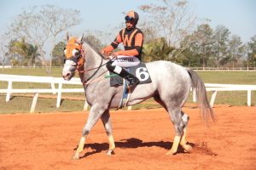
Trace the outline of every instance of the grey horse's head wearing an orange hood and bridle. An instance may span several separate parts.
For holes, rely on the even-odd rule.
[[[69,37],[67,33],[67,46],[64,49],[65,64],[62,70],[62,77],[70,80],[76,70],[81,70],[84,65],[83,37]]]

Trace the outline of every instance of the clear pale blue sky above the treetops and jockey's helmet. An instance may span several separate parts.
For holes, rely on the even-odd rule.
[[[23,8],[53,4],[61,8],[79,9],[83,16],[78,29],[104,30],[119,26],[124,21],[123,12],[138,10],[142,4],[158,3],[158,0],[1,0],[0,34],[8,27]],[[191,11],[199,18],[210,19],[210,25],[228,27],[243,42],[256,35],[256,0],[189,0]],[[143,20],[143,17],[142,17]]]

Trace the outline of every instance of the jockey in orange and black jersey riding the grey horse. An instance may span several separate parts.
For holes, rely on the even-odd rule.
[[[117,73],[120,77],[129,82],[129,88],[132,89],[140,81],[132,76],[124,68],[140,64],[143,50],[143,32],[136,27],[139,16],[137,12],[130,11],[125,16],[126,28],[119,31],[117,37],[106,48],[102,49],[102,54],[108,56],[113,49],[117,48],[120,42],[123,42],[125,50],[114,52],[107,63],[108,71]]]

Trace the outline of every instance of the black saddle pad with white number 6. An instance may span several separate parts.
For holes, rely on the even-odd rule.
[[[139,65],[125,68],[126,71],[130,72],[133,76],[137,77],[140,80],[139,84],[145,84],[152,82],[150,75],[148,73],[148,69],[144,63],[140,63]],[[119,75],[111,73],[110,74],[110,86],[121,86],[123,85],[123,78],[119,77]],[[115,75],[115,76],[113,76]]]

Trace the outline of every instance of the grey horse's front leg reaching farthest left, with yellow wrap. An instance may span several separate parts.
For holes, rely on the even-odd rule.
[[[100,119],[100,117],[105,111],[106,109],[103,109],[103,107],[100,105],[91,106],[87,122],[82,131],[82,137],[79,142],[79,147],[76,150],[73,156],[73,159],[75,160],[79,159],[79,154],[84,150],[84,143],[85,143],[86,137],[90,133],[91,128],[95,126],[96,122],[98,122],[98,120]]]

